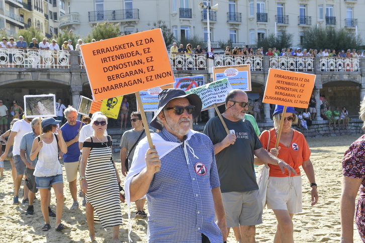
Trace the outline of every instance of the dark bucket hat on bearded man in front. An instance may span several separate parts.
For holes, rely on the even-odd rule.
[[[155,115],[149,123],[151,127],[162,130],[161,124],[157,123],[157,116],[170,100],[177,98],[187,98],[191,105],[195,105],[193,118],[199,115],[202,110],[202,100],[197,94],[186,94],[185,91],[180,88],[167,88],[162,90],[162,92],[158,95],[158,110],[155,112]]]

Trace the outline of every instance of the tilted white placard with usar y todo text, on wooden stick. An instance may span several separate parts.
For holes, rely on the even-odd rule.
[[[197,88],[189,89],[185,91],[185,93],[195,93],[199,95],[203,103],[202,111],[214,107],[220,120],[222,121],[224,129],[226,130],[227,134],[229,134],[229,130],[223,120],[221,112],[218,110],[217,105],[225,103],[226,95],[231,90],[231,84],[228,82],[227,78],[224,78],[215,82],[207,83]]]

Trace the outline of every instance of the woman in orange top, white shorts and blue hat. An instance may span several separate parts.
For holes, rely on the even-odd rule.
[[[284,173],[276,165],[270,165],[269,179],[266,192],[267,208],[272,209],[278,220],[278,228],[274,242],[294,242],[293,216],[302,211],[302,178],[299,167],[302,166],[311,187],[312,202],[315,205],[318,200],[317,184],[311,160],[311,152],[302,133],[292,129],[293,123],[298,123],[297,111],[288,107],[280,137],[279,148],[275,148],[280,127],[283,106],[276,105],[273,112],[274,128],[262,132],[260,141],[262,147],[272,155],[284,160],[292,166],[297,175]],[[262,165],[262,161],[255,158],[256,165]]]

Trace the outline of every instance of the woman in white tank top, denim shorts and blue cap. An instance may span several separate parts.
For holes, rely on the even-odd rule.
[[[41,210],[45,221],[43,231],[51,228],[48,211],[48,191],[52,186],[56,195],[56,226],[57,231],[68,228],[61,223],[63,212],[63,177],[62,167],[58,160],[58,149],[66,154],[67,145],[62,137],[61,130],[57,127],[60,120],[47,117],[42,120],[43,134],[34,139],[30,159],[33,161],[38,156],[38,161],[34,169],[34,176],[37,188],[41,194]],[[57,134],[54,134],[56,133]]]

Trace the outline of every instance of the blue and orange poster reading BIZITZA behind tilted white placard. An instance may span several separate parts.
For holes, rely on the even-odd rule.
[[[250,65],[213,67],[213,81],[227,78],[232,89],[251,91]]]

